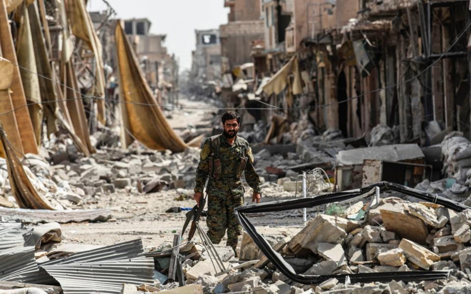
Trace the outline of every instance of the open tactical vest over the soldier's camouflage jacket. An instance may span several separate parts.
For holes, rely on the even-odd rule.
[[[221,147],[221,136],[223,135],[215,135],[210,138],[211,142],[211,154],[208,158],[208,168],[209,168],[209,176],[214,180],[219,180],[222,174],[222,163],[221,163],[221,156],[220,156],[220,147]],[[236,139],[234,144],[239,147],[239,156],[237,158],[237,165],[235,166],[235,178],[239,179],[242,175],[242,172],[245,169],[245,165],[247,164],[247,157],[245,157],[247,146],[239,144],[239,139]]]

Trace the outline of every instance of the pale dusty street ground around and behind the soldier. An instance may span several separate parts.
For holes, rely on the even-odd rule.
[[[204,109],[184,109],[205,108],[208,106],[201,101],[181,101],[183,109],[176,109],[171,113],[169,123],[181,134],[188,129],[188,125],[198,128],[210,128],[212,116]],[[128,176],[132,177],[132,174]],[[262,202],[289,199],[294,197],[294,193],[288,193],[283,189],[276,188],[276,185],[265,185],[272,188],[262,189]],[[192,192],[188,190],[187,193]],[[176,200],[181,194],[176,190],[169,189],[151,194],[126,193],[118,190],[113,194],[100,196],[97,203],[87,204],[84,208],[110,208],[114,220],[106,222],[82,222],[66,223],[62,225],[65,235],[63,243],[71,244],[91,244],[91,245],[111,245],[119,242],[142,238],[146,248],[157,247],[164,242],[172,243],[176,232],[181,232],[185,221],[185,211],[180,213],[166,213],[170,207],[194,206],[194,200],[183,197],[183,200]],[[191,196],[193,194],[191,193]],[[299,195],[298,195],[299,197]],[[246,204],[252,202],[251,189],[246,186],[244,197]],[[273,217],[276,216],[275,219]],[[116,221],[115,221],[116,220]],[[206,228],[206,218],[202,218],[202,224]],[[254,221],[260,225],[300,227],[302,224],[302,213],[278,213],[266,214],[255,217]],[[224,242],[223,242],[224,243]]]

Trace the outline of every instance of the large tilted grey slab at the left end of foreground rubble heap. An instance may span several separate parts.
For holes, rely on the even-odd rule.
[[[315,252],[317,243],[342,244],[347,233],[358,227],[360,224],[357,221],[318,215],[289,241],[288,247],[295,254],[303,248]]]

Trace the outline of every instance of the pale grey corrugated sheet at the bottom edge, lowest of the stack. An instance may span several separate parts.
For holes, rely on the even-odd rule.
[[[41,266],[57,281],[64,294],[119,294],[123,283],[154,283],[154,259],[133,258],[104,262]]]

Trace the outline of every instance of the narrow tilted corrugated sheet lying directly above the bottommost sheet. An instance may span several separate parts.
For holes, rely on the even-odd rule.
[[[47,261],[41,265],[64,265],[83,262],[100,262],[119,259],[130,259],[144,256],[141,239],[123,242],[111,246],[101,247],[93,250],[78,252],[69,257],[57,258]]]

